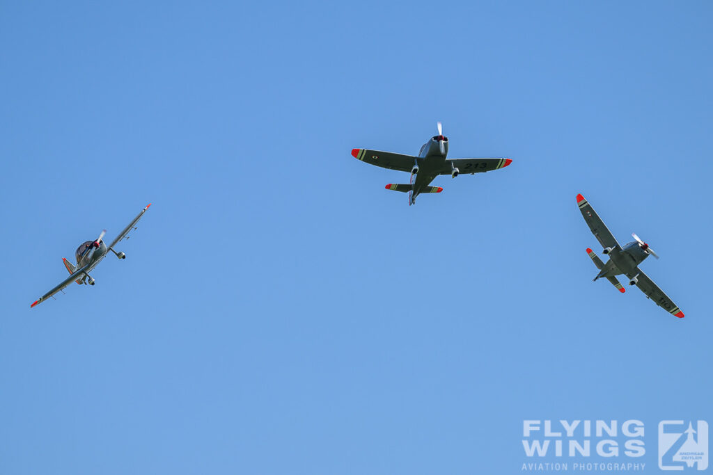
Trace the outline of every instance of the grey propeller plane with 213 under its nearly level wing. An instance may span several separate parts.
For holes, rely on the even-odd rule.
[[[418,156],[401,155],[394,152],[381,152],[355,148],[352,155],[357,160],[376,165],[377,167],[411,172],[408,184],[386,185],[386,189],[409,193],[409,206],[416,202],[421,193],[440,193],[441,187],[431,187],[429,184],[441,174],[449,174],[455,178],[461,173],[483,173],[507,167],[513,160],[509,158],[455,158],[446,159],[448,155],[448,137],[443,136],[443,126],[438,122],[438,135],[431,137],[419,152]]]

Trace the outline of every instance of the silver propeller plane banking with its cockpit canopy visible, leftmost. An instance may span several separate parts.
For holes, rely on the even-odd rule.
[[[38,303],[42,303],[43,301],[46,301],[48,298],[53,296],[55,293],[63,290],[66,286],[68,286],[70,283],[73,281],[78,283],[78,284],[84,284],[86,285],[87,283],[90,286],[94,285],[94,279],[89,275],[89,273],[93,270],[93,268],[96,267],[98,263],[101,262],[102,259],[108,254],[109,251],[112,251],[116,257],[119,259],[126,259],[126,254],[123,252],[117,252],[114,249],[114,246],[119,243],[122,239],[128,239],[129,232],[132,229],[136,229],[136,223],[138,223],[138,220],[141,219],[141,216],[146,212],[148,207],[150,207],[151,204],[149,203],[144,209],[141,210],[141,212],[136,216],[133,221],[130,222],[128,226],[124,228],[123,231],[119,233],[118,236],[116,236],[116,239],[111,241],[111,244],[107,247],[106,244],[104,244],[103,238],[104,234],[106,234],[106,229],[101,231],[101,234],[99,234],[99,237],[95,239],[94,241],[86,241],[81,244],[77,248],[77,251],[75,253],[75,257],[77,260],[77,265],[74,266],[70,261],[67,259],[62,258],[62,262],[64,263],[64,266],[67,268],[67,271],[69,272],[69,277],[61,281],[55,288],[53,288],[51,291],[48,293],[44,294],[41,296],[39,299],[34,301],[30,308],[36,306]]]

